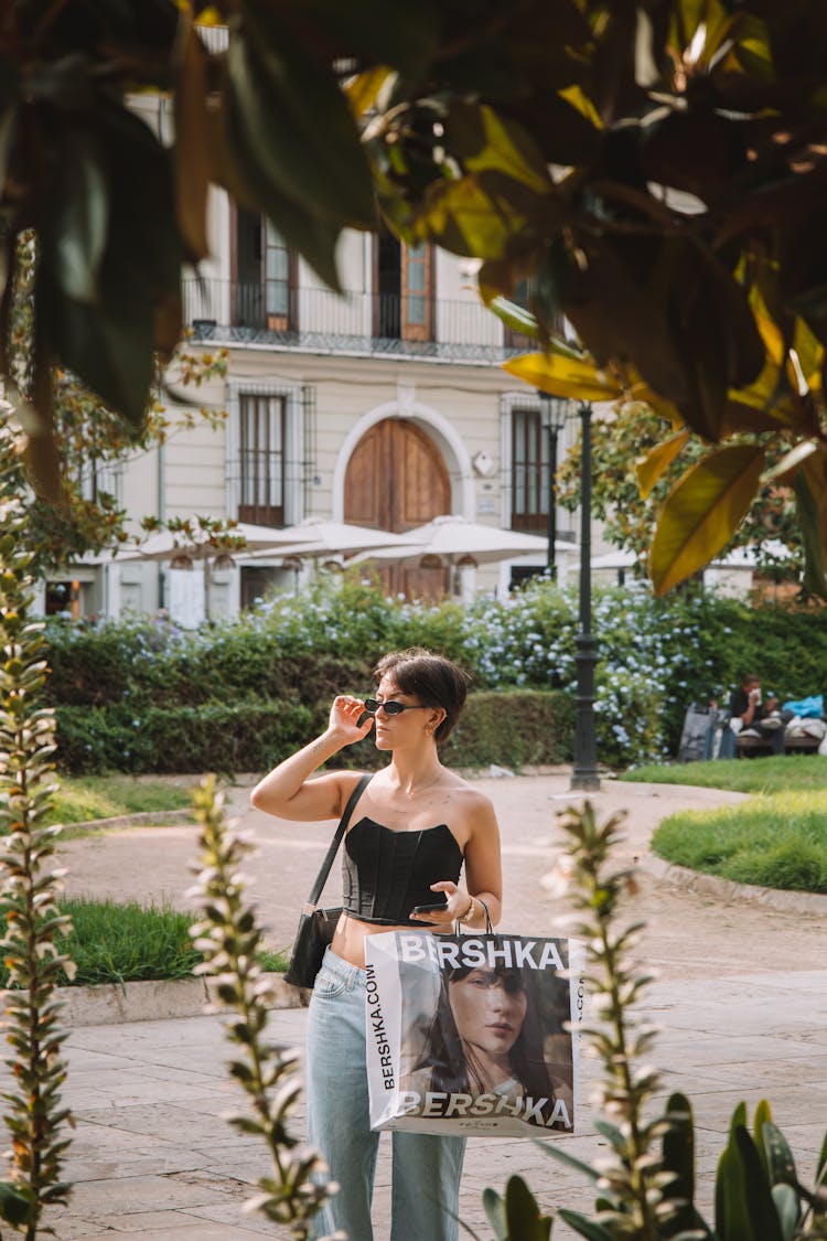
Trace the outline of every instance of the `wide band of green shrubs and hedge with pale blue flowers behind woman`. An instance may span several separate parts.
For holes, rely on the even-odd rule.
[[[594,629],[598,750],[616,767],[674,753],[687,706],[728,701],[745,670],[758,669],[786,700],[818,691],[827,668],[823,609],[750,608],[701,588],[667,599],[643,585],[599,591]],[[412,644],[472,675],[451,762],[565,761],[577,632],[575,594],[548,581],[460,608],[388,599],[350,575],[341,588],[319,582],[193,633],[148,619],[94,628],[58,619],[48,635],[61,764],[77,773],[260,771],[325,725],[337,692],[366,694],[386,650]],[[507,727],[497,728],[484,690],[502,695]],[[510,705],[515,690],[554,696]],[[369,767],[374,752],[366,743],[348,758]]]

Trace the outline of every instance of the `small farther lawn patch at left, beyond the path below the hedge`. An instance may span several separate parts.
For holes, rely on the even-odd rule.
[[[114,819],[120,814],[180,810],[191,805],[191,792],[186,786],[160,779],[60,776],[57,782],[60,789],[45,824],[88,823],[92,819]]]

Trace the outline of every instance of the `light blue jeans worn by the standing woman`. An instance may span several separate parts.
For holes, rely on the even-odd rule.
[[[314,1220],[316,1236],[342,1229],[373,1241],[379,1134],[368,1116],[365,970],[330,948],[310,1000],[306,1078],[310,1144],[340,1185]],[[458,1241],[465,1138],[393,1133],[392,1143],[391,1241]]]

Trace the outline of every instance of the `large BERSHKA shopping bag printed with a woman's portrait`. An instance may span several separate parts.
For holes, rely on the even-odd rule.
[[[365,944],[373,1129],[574,1131],[578,941],[412,930]]]

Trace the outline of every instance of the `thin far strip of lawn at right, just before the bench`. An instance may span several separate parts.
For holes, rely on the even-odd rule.
[[[827,789],[826,755],[774,755],[765,758],[720,758],[707,763],[632,767],[620,779],[646,784],[694,784],[736,793]]]

